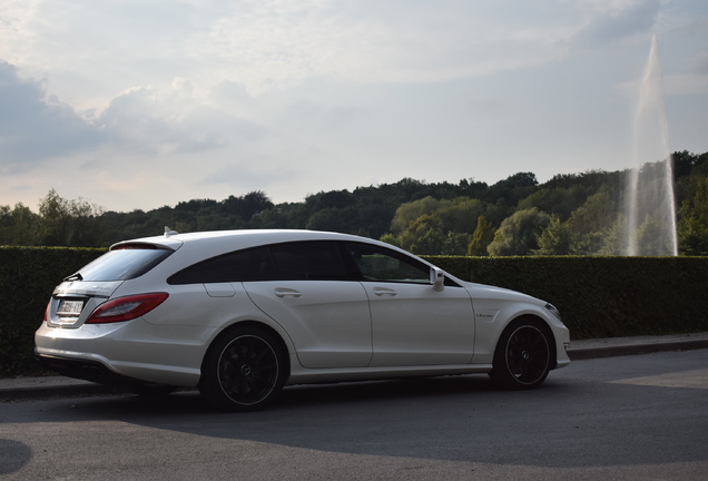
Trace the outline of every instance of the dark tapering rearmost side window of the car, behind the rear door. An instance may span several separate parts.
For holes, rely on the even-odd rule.
[[[168,284],[208,284],[276,278],[266,247],[236,251],[189,266],[167,279]]]

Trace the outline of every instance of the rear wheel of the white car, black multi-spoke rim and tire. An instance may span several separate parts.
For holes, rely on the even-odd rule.
[[[267,332],[237,327],[217,337],[201,363],[199,392],[226,411],[255,411],[271,404],[286,379],[284,350]]]

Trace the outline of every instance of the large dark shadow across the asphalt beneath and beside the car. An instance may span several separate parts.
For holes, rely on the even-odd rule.
[[[637,363],[667,375],[661,357]],[[547,468],[707,461],[695,441],[708,429],[706,391],[614,382],[633,372],[583,361],[525,392],[495,390],[483,375],[293,386],[254,413],[215,412],[197,392],[56,400],[27,422],[114,422],[225,442]]]

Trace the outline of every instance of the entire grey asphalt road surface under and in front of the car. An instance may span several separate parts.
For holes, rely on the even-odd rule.
[[[486,376],[0,403],[2,480],[704,480],[708,350],[577,361],[530,392]]]

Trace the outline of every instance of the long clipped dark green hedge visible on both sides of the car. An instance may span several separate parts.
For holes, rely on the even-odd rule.
[[[0,376],[39,372],[33,334],[51,292],[104,252],[0,247]],[[554,304],[574,340],[708,331],[708,257],[426,258]]]

